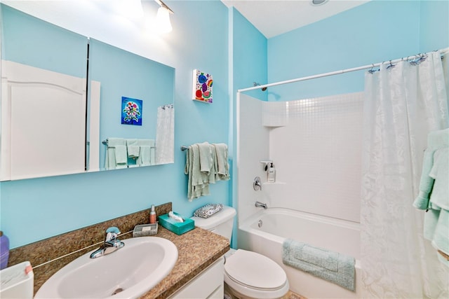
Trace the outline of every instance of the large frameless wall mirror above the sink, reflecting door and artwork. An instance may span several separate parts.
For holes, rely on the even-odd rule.
[[[0,13],[0,181],[173,162],[175,69]]]

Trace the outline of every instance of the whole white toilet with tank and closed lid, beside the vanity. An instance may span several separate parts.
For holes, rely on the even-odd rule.
[[[224,207],[208,218],[192,217],[195,225],[218,235],[232,236],[236,210]],[[288,293],[286,272],[260,253],[231,249],[225,254],[225,295],[241,299],[275,299]]]

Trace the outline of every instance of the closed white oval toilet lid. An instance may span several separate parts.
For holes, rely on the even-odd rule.
[[[226,259],[225,271],[234,281],[253,288],[280,288],[287,280],[286,272],[274,260],[243,249]]]

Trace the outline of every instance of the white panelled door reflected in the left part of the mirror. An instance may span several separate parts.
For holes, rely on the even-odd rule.
[[[83,172],[86,79],[1,65],[1,180]]]

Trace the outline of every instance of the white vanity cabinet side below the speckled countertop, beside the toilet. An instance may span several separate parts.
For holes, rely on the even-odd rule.
[[[171,295],[170,299],[222,299],[225,289],[224,264],[225,258],[215,260],[212,265]]]

